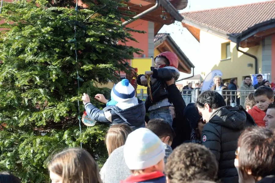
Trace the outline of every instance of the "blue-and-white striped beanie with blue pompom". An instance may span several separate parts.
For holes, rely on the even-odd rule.
[[[119,102],[129,101],[135,97],[135,89],[129,83],[128,79],[123,79],[117,83],[111,91],[111,101],[107,102],[107,106],[116,105]]]

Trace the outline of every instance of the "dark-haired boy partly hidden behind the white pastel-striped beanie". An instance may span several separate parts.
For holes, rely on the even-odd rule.
[[[164,119],[157,119],[157,118],[151,119],[146,125],[146,128],[151,130],[154,134],[156,134],[160,138],[160,140],[163,142],[163,145],[165,147],[164,163],[166,163],[167,158],[173,152],[171,148],[173,139],[175,137],[175,132],[173,128]]]

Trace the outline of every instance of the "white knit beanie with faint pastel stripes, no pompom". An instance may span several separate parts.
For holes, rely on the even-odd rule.
[[[124,145],[124,159],[130,170],[152,167],[164,156],[164,145],[151,130],[139,128],[128,135]]]

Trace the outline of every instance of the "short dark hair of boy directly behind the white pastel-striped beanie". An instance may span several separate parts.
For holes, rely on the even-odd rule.
[[[174,137],[176,136],[173,128],[164,119],[150,119],[146,125],[146,128],[154,132],[154,134],[160,138],[169,136],[169,141],[173,141]]]

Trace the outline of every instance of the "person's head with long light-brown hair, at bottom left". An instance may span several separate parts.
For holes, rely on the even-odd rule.
[[[48,164],[52,183],[101,183],[94,158],[84,149],[68,148]]]

